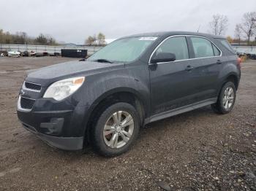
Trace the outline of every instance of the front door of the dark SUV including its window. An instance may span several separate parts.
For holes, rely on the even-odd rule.
[[[192,66],[185,36],[171,36],[155,50],[152,58],[159,52],[176,55],[176,61],[157,63],[149,66],[151,80],[151,114],[159,114],[192,104],[190,79]]]

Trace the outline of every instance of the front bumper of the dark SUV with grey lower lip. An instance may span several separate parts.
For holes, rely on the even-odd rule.
[[[29,110],[20,107],[19,102],[20,98],[17,114],[26,130],[36,134],[53,147],[64,150],[83,149],[85,132],[83,123],[89,106],[73,106],[72,108],[68,104],[68,110],[56,110],[58,107],[56,107],[54,101],[39,99],[34,101],[32,109]],[[62,104],[67,103],[64,101]],[[42,105],[47,105],[47,107]],[[42,111],[45,108],[47,108],[47,111]],[[64,106],[60,108],[64,108]]]

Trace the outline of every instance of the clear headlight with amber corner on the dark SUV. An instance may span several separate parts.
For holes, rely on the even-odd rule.
[[[85,77],[73,77],[54,82],[48,87],[43,98],[54,98],[57,101],[67,98],[83,85],[84,80]]]

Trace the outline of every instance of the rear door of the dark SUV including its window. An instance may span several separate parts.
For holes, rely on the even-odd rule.
[[[223,62],[221,51],[204,37],[189,36],[189,40],[195,54],[195,59],[190,61],[193,66],[190,78],[195,82],[192,86],[195,102],[216,98],[219,70]]]

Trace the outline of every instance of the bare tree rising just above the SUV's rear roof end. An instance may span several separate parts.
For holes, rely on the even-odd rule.
[[[212,21],[209,23],[210,32],[215,35],[224,35],[228,26],[228,19],[225,15],[213,15]]]

